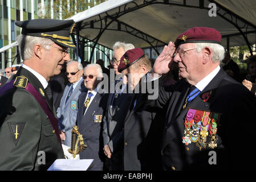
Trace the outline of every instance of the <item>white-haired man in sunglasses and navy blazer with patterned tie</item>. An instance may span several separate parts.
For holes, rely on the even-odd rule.
[[[99,64],[88,64],[84,68],[84,86],[86,90],[78,98],[77,123],[80,134],[83,135],[86,150],[80,152],[80,159],[94,159],[93,171],[102,171],[103,154],[103,120],[107,94],[102,93],[102,69]]]

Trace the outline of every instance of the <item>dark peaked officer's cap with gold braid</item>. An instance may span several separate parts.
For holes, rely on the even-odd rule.
[[[21,34],[38,36],[41,38],[51,39],[60,46],[75,49],[76,46],[70,39],[74,20],[56,20],[56,19],[32,19],[17,21],[15,24],[22,28]]]

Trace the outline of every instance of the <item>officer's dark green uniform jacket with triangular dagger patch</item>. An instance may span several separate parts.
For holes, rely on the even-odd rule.
[[[22,67],[18,76],[27,78],[56,116],[38,78]],[[0,170],[44,170],[64,158],[55,134],[59,131],[53,129],[36,98],[25,88],[26,80],[0,96]]]

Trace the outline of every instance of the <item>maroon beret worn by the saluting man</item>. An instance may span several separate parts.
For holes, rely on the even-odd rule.
[[[185,43],[216,43],[221,44],[221,34],[214,28],[193,27],[180,34],[175,40],[176,47]]]

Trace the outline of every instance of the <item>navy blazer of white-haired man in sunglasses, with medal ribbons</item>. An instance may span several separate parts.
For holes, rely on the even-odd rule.
[[[86,100],[88,90],[84,90],[78,98],[78,117],[77,125],[79,133],[83,135],[84,144],[87,148],[80,152],[80,159],[94,159],[92,170],[103,169],[103,117],[105,106],[107,104],[107,94],[97,93],[91,104],[89,105],[86,114],[83,115],[84,101]]]

